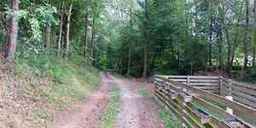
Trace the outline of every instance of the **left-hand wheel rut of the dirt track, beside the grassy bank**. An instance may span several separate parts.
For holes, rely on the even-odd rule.
[[[49,123],[49,128],[95,128],[98,116],[104,113],[113,85],[106,73],[100,73],[101,84],[83,102],[68,108]]]

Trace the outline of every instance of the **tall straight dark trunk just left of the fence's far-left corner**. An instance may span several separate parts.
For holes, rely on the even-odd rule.
[[[143,79],[147,79],[148,73],[148,0],[144,0],[144,30],[143,30]]]

